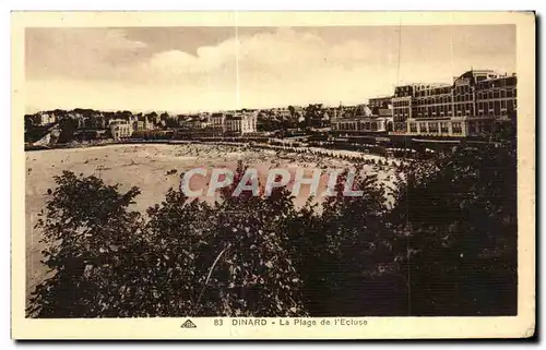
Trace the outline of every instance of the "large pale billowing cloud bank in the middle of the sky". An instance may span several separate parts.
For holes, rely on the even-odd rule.
[[[229,38],[217,46],[205,46],[189,55],[180,50],[155,53],[149,68],[154,73],[214,73],[222,69],[245,71],[294,71],[297,67],[321,69],[361,65],[371,58],[369,48],[357,40],[330,44],[309,33],[280,28]]]

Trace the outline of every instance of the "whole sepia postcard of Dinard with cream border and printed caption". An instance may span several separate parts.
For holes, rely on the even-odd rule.
[[[12,338],[535,333],[532,12],[13,12]]]

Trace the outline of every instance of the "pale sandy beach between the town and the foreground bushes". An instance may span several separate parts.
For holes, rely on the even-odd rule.
[[[39,243],[40,232],[34,229],[37,214],[45,207],[47,190],[55,188],[54,176],[61,174],[63,170],[76,174],[97,176],[108,184],[120,185],[120,191],[131,186],[141,189],[136,203],[131,209],[144,213],[156,203],[161,203],[169,188],[179,188],[180,173],[192,168],[204,168],[207,177],[197,177],[191,182],[191,188],[203,188],[210,181],[213,168],[228,168],[235,170],[240,159],[248,167],[256,168],[260,183],[265,183],[266,171],[272,168],[285,168],[294,177],[298,168],[309,169],[309,174],[314,168],[323,169],[319,185],[325,189],[328,169],[345,169],[354,167],[347,159],[339,159],[324,155],[297,154],[288,150],[277,152],[272,149],[256,149],[230,145],[111,145],[87,148],[51,149],[27,152],[26,157],[26,278],[27,293],[36,283],[46,276],[46,268],[41,265],[43,245]],[[366,155],[370,158],[378,156]],[[171,171],[176,169],[175,171]],[[171,173],[168,173],[171,171]],[[391,167],[366,165],[363,171],[378,172],[379,177],[387,180],[392,174]],[[307,176],[306,171],[306,176]],[[292,184],[288,185],[290,188]],[[296,205],[302,205],[309,196],[309,185],[302,185],[299,195],[295,197]],[[213,197],[202,197],[214,201]]]

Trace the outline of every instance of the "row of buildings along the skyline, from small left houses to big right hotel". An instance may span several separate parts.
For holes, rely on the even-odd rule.
[[[392,96],[370,98],[366,105],[325,107],[288,106],[272,109],[240,109],[194,114],[158,116],[68,112],[78,129],[110,130],[114,138],[138,131],[178,129],[179,134],[197,136],[240,136],[253,134],[258,124],[271,128],[330,128],[335,134],[410,135],[466,137],[483,135],[498,123],[514,120],[518,110],[517,76],[492,70],[470,70],[451,84],[407,84],[396,86]],[[59,121],[54,112],[28,116],[32,124]],[[290,123],[280,124],[289,120]],[[25,120],[26,125],[26,120]],[[260,124],[263,126],[263,124]],[[280,126],[283,125],[283,126]],[[286,126],[288,125],[288,126]],[[261,130],[264,130],[261,128]]]

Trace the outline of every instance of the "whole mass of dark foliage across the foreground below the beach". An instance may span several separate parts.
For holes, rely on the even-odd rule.
[[[512,149],[465,148],[406,171],[392,206],[368,176],[320,210],[284,189],[214,205],[169,190],[142,216],[138,189],[64,172],[37,225],[56,274],[27,314],[513,315],[515,174]]]

